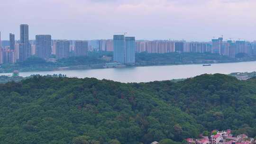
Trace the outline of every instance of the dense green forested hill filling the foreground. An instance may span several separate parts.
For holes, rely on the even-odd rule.
[[[36,76],[0,84],[0,144],[183,144],[203,131],[256,136],[256,79],[177,83]]]

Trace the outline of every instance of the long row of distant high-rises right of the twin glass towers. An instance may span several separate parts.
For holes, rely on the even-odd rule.
[[[247,41],[223,41],[223,38],[212,39],[211,42],[186,42],[186,41],[137,41],[136,52],[147,53],[213,53],[235,57],[236,54],[243,53],[248,56],[256,55],[256,42]]]

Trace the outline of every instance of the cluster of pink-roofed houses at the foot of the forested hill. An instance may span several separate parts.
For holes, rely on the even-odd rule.
[[[254,139],[245,134],[233,136],[231,130],[213,130],[210,137],[202,136],[200,139],[187,138],[188,144],[254,144]]]

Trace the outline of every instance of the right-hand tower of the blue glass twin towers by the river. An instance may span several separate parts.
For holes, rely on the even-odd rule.
[[[135,63],[135,37],[125,37],[125,63]]]

